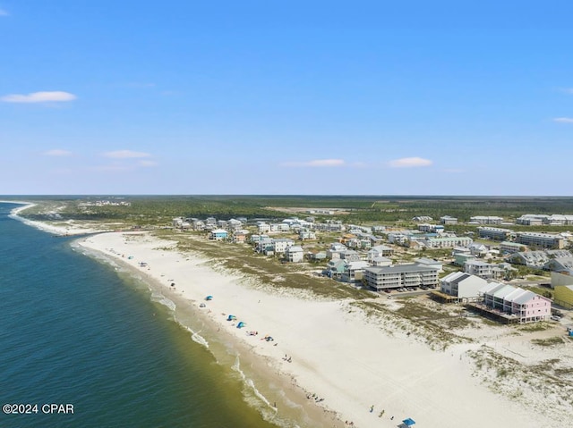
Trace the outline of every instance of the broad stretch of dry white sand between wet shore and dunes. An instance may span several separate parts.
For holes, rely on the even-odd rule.
[[[278,384],[291,378],[303,394],[323,399],[319,405],[336,412],[339,421],[326,425],[325,416],[321,426],[352,421],[361,428],[397,427],[406,417],[412,417],[416,427],[431,428],[549,428],[570,422],[563,412],[543,416],[488,390],[472,375],[472,361],[465,354],[479,348],[479,343],[434,351],[414,337],[382,331],[350,302],[253,287],[241,277],[217,272],[201,257],[166,250],[167,241],[147,234],[104,233],[84,239],[81,245],[115,256],[160,281],[166,293],[203,311],[221,333],[266,357]],[[149,266],[141,267],[140,262]],[[208,295],[213,300],[205,301]],[[386,298],[377,301],[395,304]],[[206,307],[199,309],[201,303]],[[222,314],[236,315],[236,322],[247,325],[237,329]],[[247,331],[259,334],[248,336]],[[261,340],[267,334],[274,340]],[[286,356],[292,362],[285,361]],[[315,400],[306,402],[311,408]]]

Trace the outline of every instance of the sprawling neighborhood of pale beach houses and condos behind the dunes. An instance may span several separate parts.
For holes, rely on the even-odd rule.
[[[277,263],[298,264],[302,270],[371,290],[387,298],[427,294],[443,303],[469,305],[500,322],[545,321],[552,315],[552,298],[573,307],[573,240],[569,233],[512,231],[499,216],[473,215],[475,237],[449,227],[457,218],[444,215],[412,218],[410,228],[395,224],[345,224],[336,211],[284,219],[217,220],[175,218],[173,228],[195,231],[205,238],[249,246],[255,254]],[[329,215],[322,221],[317,214]],[[516,225],[569,224],[568,215],[526,214]],[[573,224],[573,222],[571,222]],[[503,228],[498,226],[504,226]],[[553,281],[552,273],[560,274]],[[537,278],[532,290],[512,281]],[[553,284],[555,282],[555,284]],[[539,294],[541,293],[541,294]],[[557,303],[555,303],[557,305]]]

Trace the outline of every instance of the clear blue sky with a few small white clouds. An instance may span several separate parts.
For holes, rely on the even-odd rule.
[[[0,194],[571,196],[571,16],[0,0]]]

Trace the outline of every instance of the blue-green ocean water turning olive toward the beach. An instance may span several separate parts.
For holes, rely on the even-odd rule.
[[[29,413],[3,407],[0,427],[278,426],[169,302],[14,207],[0,204],[0,404]]]

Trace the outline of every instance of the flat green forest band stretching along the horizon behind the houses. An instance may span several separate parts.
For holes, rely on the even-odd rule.
[[[337,219],[346,223],[375,224],[411,222],[419,215],[449,215],[468,222],[475,215],[495,215],[514,222],[522,214],[573,214],[573,197],[479,197],[479,196],[277,196],[277,195],[198,195],[198,196],[37,196],[4,197],[37,204],[23,213],[31,220],[46,220],[56,210],[62,220],[124,221],[133,224],[160,224],[174,217],[233,217],[278,220],[292,213],[280,208],[311,210],[337,208],[341,214],[313,215],[317,220]],[[124,205],[95,206],[96,201],[123,201]],[[299,216],[309,216],[301,210]],[[518,226],[517,226],[518,227]],[[456,229],[455,226],[449,229]],[[470,228],[471,229],[471,228]],[[515,229],[515,228],[514,228]],[[555,229],[562,230],[562,227]],[[464,228],[467,231],[467,228]],[[548,229],[549,231],[549,229]]]

